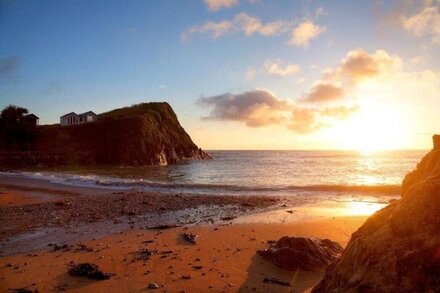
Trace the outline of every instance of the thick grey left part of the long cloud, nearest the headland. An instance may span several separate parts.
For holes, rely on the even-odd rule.
[[[201,97],[198,104],[212,107],[205,120],[243,122],[249,127],[262,127],[280,124],[285,118],[283,112],[292,106],[266,90],[247,91],[242,94],[222,94]]]

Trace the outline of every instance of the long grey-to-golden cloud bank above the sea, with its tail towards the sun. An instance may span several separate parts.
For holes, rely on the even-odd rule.
[[[281,125],[298,134],[309,134],[331,126],[332,120],[344,120],[358,109],[355,106],[300,107],[264,89],[201,97],[197,103],[211,108],[209,115],[202,117],[203,120],[241,122],[253,128]]]

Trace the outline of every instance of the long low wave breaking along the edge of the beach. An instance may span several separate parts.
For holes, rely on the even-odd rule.
[[[168,183],[152,182],[143,178],[118,178],[103,175],[77,175],[68,173],[40,173],[40,172],[0,172],[0,174],[24,176],[39,180],[48,180],[53,183],[98,187],[118,190],[169,191],[188,193],[213,194],[265,194],[265,195],[300,195],[304,193],[361,193],[368,195],[399,195],[400,185],[289,185],[289,186],[243,186],[234,184],[208,183]]]

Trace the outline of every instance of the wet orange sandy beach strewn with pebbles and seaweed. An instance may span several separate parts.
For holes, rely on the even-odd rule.
[[[307,291],[322,270],[286,271],[256,251],[282,236],[345,246],[370,210],[384,205],[351,211],[347,202],[115,191],[7,174],[0,192],[0,286],[39,292],[139,292],[150,283],[160,292]],[[196,234],[197,243],[183,233]],[[152,255],[139,259],[142,249]],[[114,275],[97,281],[68,274],[85,262]]]

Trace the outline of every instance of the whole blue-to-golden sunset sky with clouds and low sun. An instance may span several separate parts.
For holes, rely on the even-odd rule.
[[[0,0],[0,108],[166,101],[203,149],[429,149],[440,1]]]

